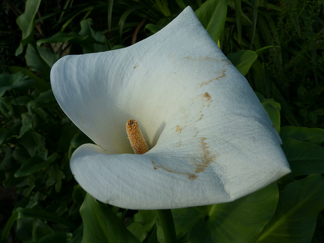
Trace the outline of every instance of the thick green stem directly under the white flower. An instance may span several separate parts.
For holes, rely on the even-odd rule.
[[[157,213],[161,221],[166,243],[176,243],[177,235],[171,209],[160,209],[157,210]]]

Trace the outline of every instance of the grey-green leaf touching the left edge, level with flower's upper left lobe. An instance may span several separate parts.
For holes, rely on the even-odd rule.
[[[0,74],[0,97],[2,97],[7,90],[27,90],[32,87],[34,80],[24,75],[23,71],[9,74]]]

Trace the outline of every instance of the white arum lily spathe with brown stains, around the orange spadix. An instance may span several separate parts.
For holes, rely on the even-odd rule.
[[[61,58],[51,82],[63,111],[96,143],[74,151],[72,173],[104,203],[224,203],[290,172],[257,96],[190,7],[133,46]],[[129,119],[148,152],[134,154]]]

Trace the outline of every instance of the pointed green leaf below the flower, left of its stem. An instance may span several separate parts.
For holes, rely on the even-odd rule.
[[[99,204],[89,194],[80,208],[80,214],[84,223],[83,243],[140,242],[111,209]]]

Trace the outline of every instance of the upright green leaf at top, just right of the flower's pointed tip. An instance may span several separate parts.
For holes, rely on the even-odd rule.
[[[208,0],[194,13],[213,38],[214,42],[218,43],[225,25],[227,1]]]

